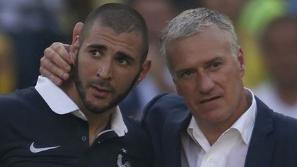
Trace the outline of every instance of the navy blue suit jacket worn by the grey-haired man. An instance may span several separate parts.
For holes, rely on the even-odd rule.
[[[256,105],[245,167],[296,167],[297,120],[274,113],[258,98]],[[181,166],[181,131],[191,117],[184,100],[173,93],[159,95],[147,104],[142,124],[153,141],[155,166]]]

